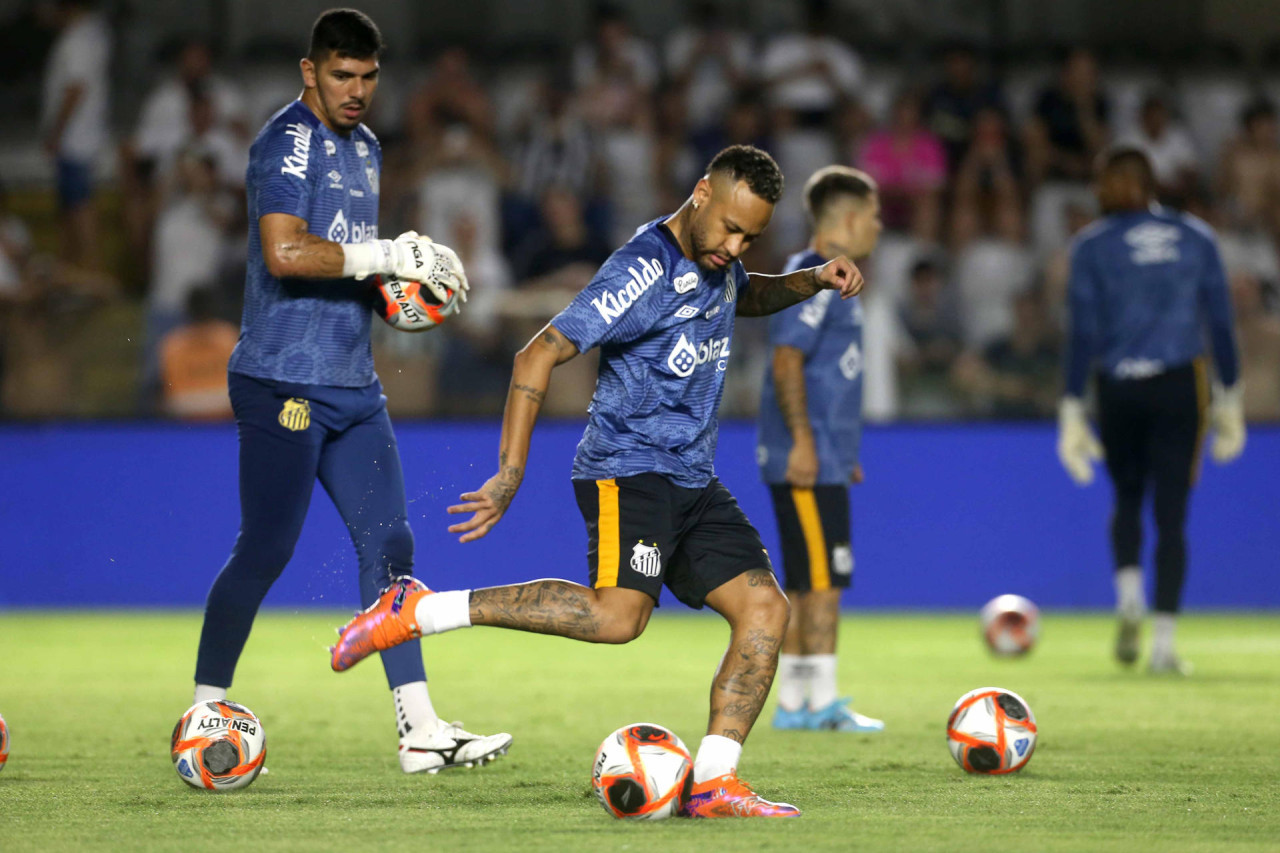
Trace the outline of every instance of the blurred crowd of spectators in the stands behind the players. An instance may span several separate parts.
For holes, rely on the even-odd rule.
[[[797,4],[795,26],[772,32],[722,6],[689,4],[659,38],[599,5],[588,38],[547,55],[481,63],[456,44],[384,61],[369,122],[385,155],[380,232],[453,246],[474,288],[439,332],[375,323],[394,414],[498,414],[515,351],[639,224],[675,210],[716,151],[751,142],[788,181],[753,270],[778,272],[805,243],[812,172],[845,163],[879,182],[886,236],[863,297],[870,419],[1048,418],[1069,240],[1096,215],[1091,161],[1130,141],[1166,202],[1219,229],[1247,411],[1280,420],[1280,68],[1084,46],[1012,61],[964,42],[906,61],[831,35],[831,3]],[[20,156],[0,158],[13,187],[0,192],[0,416],[227,418],[248,146],[298,93],[305,33],[221,61],[180,38],[150,90],[125,93],[111,88],[110,15],[72,0],[38,12],[38,145],[56,168],[31,187],[5,173]],[[737,336],[724,416],[754,414],[764,364],[763,324]],[[585,411],[594,361],[579,361],[557,373],[550,414]]]

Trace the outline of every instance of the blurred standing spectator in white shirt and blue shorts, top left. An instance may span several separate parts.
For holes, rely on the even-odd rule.
[[[50,23],[59,29],[45,65],[40,132],[58,170],[64,259],[100,266],[93,165],[109,143],[111,32],[92,0],[56,0]]]

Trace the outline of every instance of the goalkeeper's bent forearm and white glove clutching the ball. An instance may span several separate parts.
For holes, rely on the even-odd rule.
[[[467,277],[448,246],[406,231],[396,240],[335,243],[307,231],[307,220],[266,214],[257,220],[266,270],[276,278],[357,278],[396,275],[422,282],[442,301],[448,287],[466,301]]]

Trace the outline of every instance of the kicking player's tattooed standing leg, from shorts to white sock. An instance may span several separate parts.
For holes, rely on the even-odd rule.
[[[755,569],[714,589],[707,603],[728,620],[728,651],[712,680],[707,734],[742,743],[773,685],[787,628],[787,598],[773,573]]]

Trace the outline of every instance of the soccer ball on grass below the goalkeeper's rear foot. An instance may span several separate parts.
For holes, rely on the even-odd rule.
[[[192,788],[247,788],[266,761],[266,731],[243,704],[197,702],[173,727],[169,756]]]

